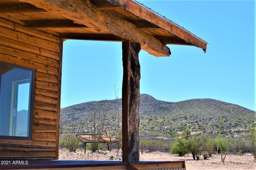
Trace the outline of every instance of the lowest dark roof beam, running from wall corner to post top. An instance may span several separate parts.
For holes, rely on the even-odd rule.
[[[115,35],[94,33],[61,33],[60,38],[95,41],[124,41],[124,39],[117,37]]]

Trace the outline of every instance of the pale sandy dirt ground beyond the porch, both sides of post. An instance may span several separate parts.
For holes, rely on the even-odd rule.
[[[122,151],[112,150],[99,151],[99,153],[91,153],[84,150],[77,150],[76,152],[69,152],[68,150],[60,150],[61,160],[120,160],[122,158]],[[152,152],[140,154],[140,160],[185,160],[187,170],[195,169],[220,169],[220,170],[242,170],[242,169],[255,169],[256,162],[253,161],[251,154],[244,154],[243,156],[227,155],[225,165],[222,164],[220,155],[213,155],[211,158],[204,160],[201,156],[200,160],[193,160],[191,155],[179,157],[178,155],[171,155],[164,152]]]

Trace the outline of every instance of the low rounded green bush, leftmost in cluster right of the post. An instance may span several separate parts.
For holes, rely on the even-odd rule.
[[[188,141],[186,139],[178,139],[177,142],[172,145],[171,153],[179,154],[179,156],[188,154]]]

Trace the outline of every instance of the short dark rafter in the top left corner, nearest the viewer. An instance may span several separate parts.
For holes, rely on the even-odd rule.
[[[21,13],[21,12],[45,12],[31,4],[6,4],[0,5],[0,13]]]

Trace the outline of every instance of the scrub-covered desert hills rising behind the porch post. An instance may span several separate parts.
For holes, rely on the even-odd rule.
[[[88,120],[93,112],[106,112],[106,127],[113,131],[115,127],[116,106],[121,113],[121,99],[90,101],[61,109],[62,127],[72,122]],[[197,133],[205,131],[217,135],[222,115],[221,133],[226,137],[240,137],[246,134],[247,127],[244,117],[253,117],[254,111],[242,106],[213,99],[191,99],[179,102],[157,100],[154,97],[140,95],[140,136],[145,138],[175,138],[185,129]],[[89,122],[88,122],[89,121]],[[87,132],[85,125],[82,132]],[[63,131],[62,131],[63,132]],[[79,132],[81,133],[81,132]]]

